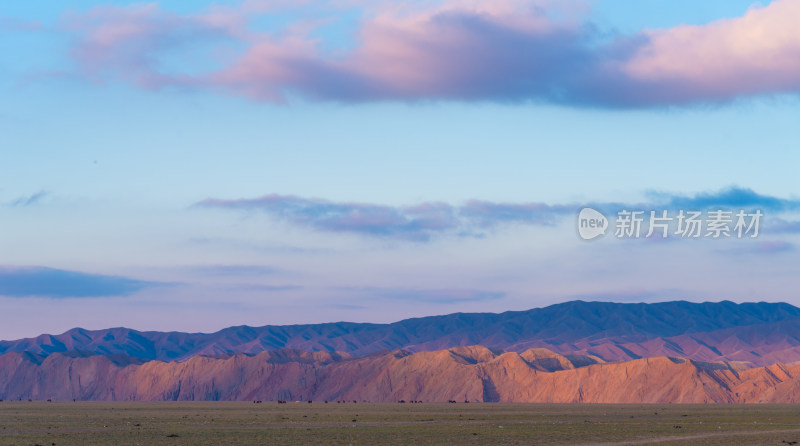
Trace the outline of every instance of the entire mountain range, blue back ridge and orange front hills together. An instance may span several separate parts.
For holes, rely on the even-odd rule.
[[[210,334],[76,328],[0,341],[0,398],[800,402],[798,361],[789,304],[573,301]]]

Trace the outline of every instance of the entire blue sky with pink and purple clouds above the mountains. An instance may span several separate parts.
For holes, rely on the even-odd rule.
[[[798,20],[800,0],[3,2],[0,339],[800,305]]]

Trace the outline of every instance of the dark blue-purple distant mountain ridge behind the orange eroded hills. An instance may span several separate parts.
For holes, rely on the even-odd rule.
[[[197,355],[257,355],[282,349],[364,356],[468,345],[511,352],[547,348],[603,361],[674,356],[764,366],[800,361],[800,308],[766,302],[572,301],[527,311],[455,313],[391,324],[239,326],[208,334],[76,328],[60,335],[0,341],[0,355],[27,352],[44,358],[79,352],[185,361]]]

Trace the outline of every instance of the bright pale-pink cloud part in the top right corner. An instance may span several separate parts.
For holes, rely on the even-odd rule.
[[[648,43],[622,64],[632,82],[680,100],[729,99],[800,89],[800,2],[779,0],[742,17],[645,31]]]

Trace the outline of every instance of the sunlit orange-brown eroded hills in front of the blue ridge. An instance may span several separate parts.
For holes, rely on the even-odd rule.
[[[411,353],[265,351],[147,361],[124,355],[0,355],[0,398],[399,400],[551,403],[798,403],[800,365],[651,357],[603,362],[544,348]]]

